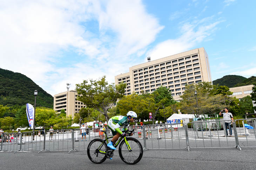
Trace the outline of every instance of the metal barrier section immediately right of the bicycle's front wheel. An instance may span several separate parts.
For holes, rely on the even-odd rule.
[[[147,149],[186,149],[187,132],[183,123],[144,126]]]

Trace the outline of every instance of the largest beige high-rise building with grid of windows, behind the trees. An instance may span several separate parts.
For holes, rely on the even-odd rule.
[[[122,81],[127,83],[124,95],[151,93],[164,86],[179,101],[187,83],[211,82],[209,58],[203,47],[182,52],[129,67],[128,73],[115,76],[115,84]]]

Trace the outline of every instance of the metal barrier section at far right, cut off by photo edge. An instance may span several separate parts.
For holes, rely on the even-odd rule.
[[[247,125],[247,127],[245,127]],[[256,118],[235,120],[237,145],[241,148],[256,148]]]

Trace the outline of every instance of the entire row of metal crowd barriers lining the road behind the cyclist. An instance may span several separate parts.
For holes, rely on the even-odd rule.
[[[128,126],[134,129],[133,138],[143,149],[206,149],[206,148],[256,148],[256,118],[228,121],[227,129],[223,120],[196,121],[188,124],[154,124]],[[226,134],[226,130],[228,134]],[[232,130],[232,135],[230,135]],[[81,130],[39,131],[5,133],[0,136],[0,151],[86,151],[90,141],[105,139],[100,128],[87,128],[86,139]],[[52,134],[50,134],[52,132]],[[33,133],[34,139],[33,139]],[[112,136],[108,129],[107,136]]]

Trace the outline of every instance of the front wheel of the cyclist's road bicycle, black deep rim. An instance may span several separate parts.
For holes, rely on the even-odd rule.
[[[135,139],[135,138],[126,138],[130,148],[132,149],[132,151],[129,151],[125,141],[123,140],[120,143],[119,146],[119,155],[120,158],[123,162],[127,163],[127,164],[136,164],[138,163],[143,155],[143,148],[141,143]]]

